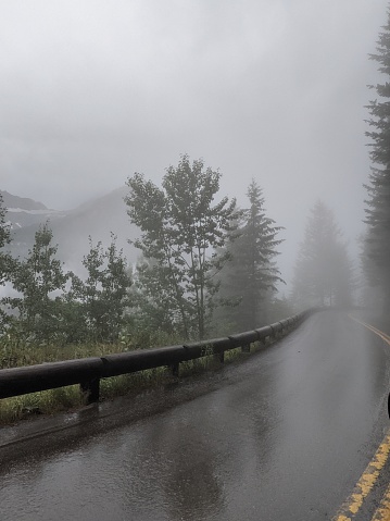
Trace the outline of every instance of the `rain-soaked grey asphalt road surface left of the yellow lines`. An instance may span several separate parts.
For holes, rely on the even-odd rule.
[[[331,519],[388,427],[387,359],[347,314],[316,313],[239,367],[93,412],[65,446],[9,447],[0,519]]]

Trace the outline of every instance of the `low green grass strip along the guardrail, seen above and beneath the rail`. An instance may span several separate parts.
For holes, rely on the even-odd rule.
[[[175,340],[177,344],[177,339]],[[59,348],[53,345],[22,345],[21,343],[5,339],[5,342],[0,344],[0,369],[77,358],[100,357],[128,350],[130,350],[128,345],[119,343],[91,343]],[[231,349],[225,352],[225,364],[247,357],[248,353],[242,353],[241,349]],[[221,368],[221,363],[213,355],[210,355],[200,359],[181,362],[179,377],[196,376],[205,371],[218,368]],[[177,377],[175,377],[167,368],[149,369],[137,373],[103,379],[100,382],[100,396],[101,400],[109,400],[126,394],[137,394],[147,388],[164,386],[174,381],[177,381]],[[3,398],[0,399],[0,425],[13,424],[37,414],[51,415],[59,412],[77,410],[83,407],[83,405],[84,397],[78,385]]]

